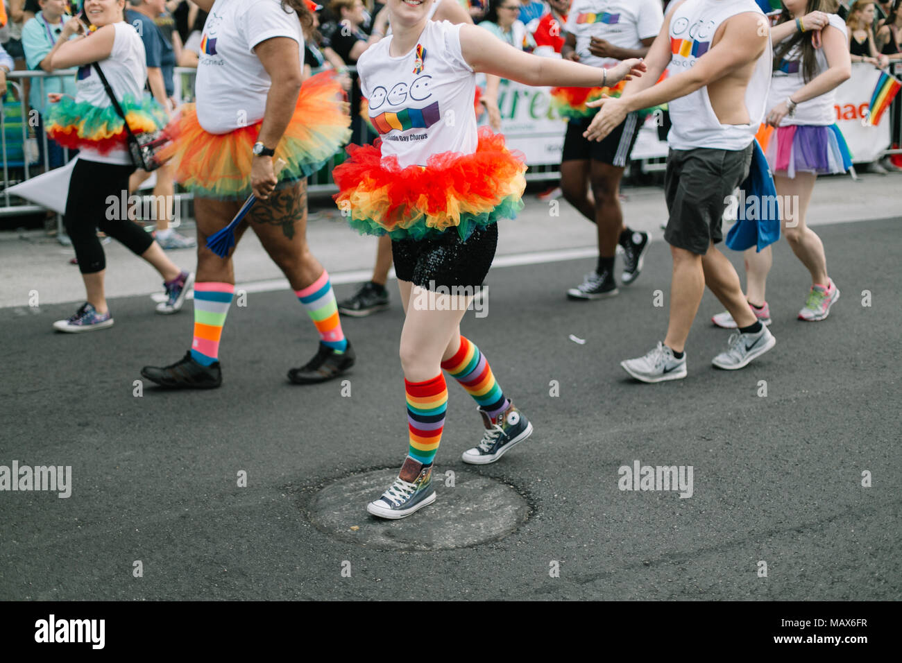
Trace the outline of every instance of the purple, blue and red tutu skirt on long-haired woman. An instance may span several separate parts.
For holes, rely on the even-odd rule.
[[[768,134],[762,147],[771,172],[785,172],[790,178],[796,172],[833,175],[851,168],[849,146],[836,124],[781,126]]]

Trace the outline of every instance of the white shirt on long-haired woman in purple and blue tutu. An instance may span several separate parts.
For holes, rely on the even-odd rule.
[[[845,21],[836,14],[829,14],[830,26],[842,32],[842,39],[848,40]],[[787,40],[792,37],[787,37]],[[830,63],[827,62],[827,56],[824,49],[820,48],[815,51],[815,77],[820,76],[827,69],[830,69]],[[787,100],[793,93],[805,87],[805,72],[802,63],[802,51],[796,44],[783,58],[779,61],[777,69],[774,69],[774,78],[770,81],[770,94],[768,96],[767,110]],[[808,101],[803,101],[796,106],[796,115],[790,117],[787,115],[783,118],[780,126],[789,126],[791,124],[808,124],[813,126],[829,126],[836,122],[836,110],[833,105],[836,103],[836,88]]]

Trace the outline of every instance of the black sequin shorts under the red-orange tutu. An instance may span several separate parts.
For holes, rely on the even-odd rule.
[[[465,242],[456,228],[436,239],[393,240],[391,255],[400,281],[426,290],[456,285],[475,288],[483,285],[497,246],[498,225],[492,224],[476,228]]]

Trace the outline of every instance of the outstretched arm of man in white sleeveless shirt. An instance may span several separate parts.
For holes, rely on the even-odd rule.
[[[686,97],[695,90],[720,80],[753,60],[757,60],[767,48],[770,38],[767,30],[761,30],[761,22],[766,19],[759,14],[747,12],[732,17],[723,28],[723,36],[717,45],[695,60],[695,66],[676,76],[632,94],[628,85],[620,98],[604,98],[589,104],[601,110],[594,116],[592,124],[584,136],[592,141],[600,141],[633,111],[666,104],[679,97]],[[658,41],[655,44],[658,45]],[[652,46],[652,50],[655,46]],[[669,51],[669,46],[668,46]],[[663,71],[663,70],[662,70]],[[648,77],[649,80],[655,80]]]

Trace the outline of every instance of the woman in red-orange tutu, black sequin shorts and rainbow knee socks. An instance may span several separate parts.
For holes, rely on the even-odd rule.
[[[374,145],[349,148],[334,171],[338,207],[362,233],[391,236],[405,320],[400,338],[409,432],[398,478],[367,511],[399,519],[435,502],[433,459],[445,422],[442,369],[477,403],[482,440],[465,463],[493,463],[532,433],[492,368],[460,334],[475,290],[492,265],[500,218],[522,207],[522,155],[501,135],[476,129],[477,72],[534,86],[594,87],[603,72],[529,55],[473,25],[429,21],[434,0],[389,0],[391,36],[357,63]],[[615,83],[645,69],[627,60],[608,69]]]

